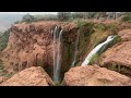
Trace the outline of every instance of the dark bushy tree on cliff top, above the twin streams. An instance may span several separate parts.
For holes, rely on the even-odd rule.
[[[58,12],[57,16],[59,21],[68,21],[71,16],[71,12]]]

